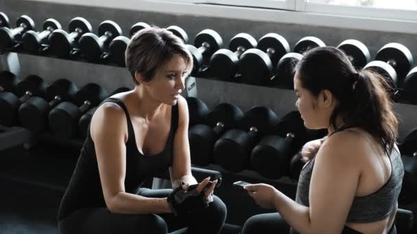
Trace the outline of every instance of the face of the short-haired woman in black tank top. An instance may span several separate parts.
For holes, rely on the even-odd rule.
[[[174,57],[155,73],[154,79],[141,82],[154,101],[167,105],[176,105],[180,93],[184,90],[187,65],[180,55]]]

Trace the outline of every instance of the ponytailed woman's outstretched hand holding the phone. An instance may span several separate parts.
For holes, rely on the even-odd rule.
[[[248,191],[249,196],[255,200],[255,203],[265,209],[275,209],[275,200],[278,190],[265,183],[246,185],[243,187]]]

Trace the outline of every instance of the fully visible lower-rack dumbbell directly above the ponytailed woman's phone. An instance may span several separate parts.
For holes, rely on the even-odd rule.
[[[267,135],[252,150],[252,168],[270,179],[289,174],[289,162],[298,148],[306,142],[307,129],[300,112],[289,112],[274,127],[273,135]]]

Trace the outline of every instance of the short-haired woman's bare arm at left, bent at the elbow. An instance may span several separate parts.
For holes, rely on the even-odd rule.
[[[104,200],[112,213],[168,213],[167,198],[146,198],[125,191],[128,129],[123,109],[104,103],[91,120]]]

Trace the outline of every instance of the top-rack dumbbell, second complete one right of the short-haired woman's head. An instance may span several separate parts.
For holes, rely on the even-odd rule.
[[[229,42],[229,49],[219,49],[210,58],[211,77],[233,81],[238,70],[240,56],[248,49],[258,46],[257,40],[250,34],[240,33]]]

